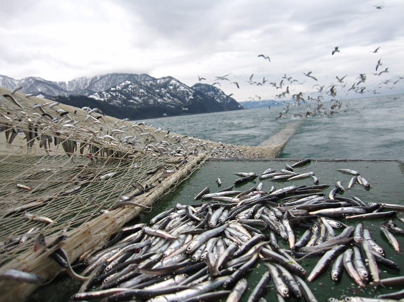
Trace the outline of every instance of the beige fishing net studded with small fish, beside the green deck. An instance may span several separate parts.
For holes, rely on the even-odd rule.
[[[17,269],[49,280],[60,267],[48,256],[61,244],[74,261],[102,246],[208,158],[257,157],[252,147],[0,92],[0,274]],[[38,255],[33,246],[40,233],[48,243],[63,240]],[[36,287],[0,280],[4,293],[20,297]]]

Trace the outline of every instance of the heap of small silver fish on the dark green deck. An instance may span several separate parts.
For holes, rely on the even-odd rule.
[[[404,206],[344,197],[338,194],[344,191],[340,181],[335,186],[319,185],[313,171],[294,172],[309,163],[306,159],[286,165],[281,172],[267,169],[260,176],[236,173],[240,178],[234,183],[252,182],[257,177],[274,182],[310,177],[314,185],[277,190],[272,186],[266,192],[260,182],[246,191],[233,190],[232,186],[216,193],[207,187],[195,196],[195,200],[201,199],[199,203],[177,204],[155,216],[149,225],[126,226],[102,249],[83,256],[86,268],[80,275],[71,272],[67,257],[59,249],[59,256],[54,254],[53,258],[62,259],[58,263],[67,267],[72,277],[85,280],[72,300],[233,302],[250,287],[248,301],[265,301],[262,296],[272,282],[278,301],[317,301],[308,283],[330,268],[334,282],[339,282],[346,271],[360,287],[402,287],[402,276],[380,278],[380,267],[396,271],[399,267],[385,257],[365,221],[383,218],[380,229],[399,252],[395,236],[404,231],[396,222],[404,220],[397,212],[404,211]],[[358,183],[371,190],[359,172],[338,170],[351,174],[348,188]],[[360,222],[348,226],[342,219]],[[301,261],[309,257],[318,262],[307,271]],[[265,273],[256,285],[248,284],[245,277],[258,263],[265,267]],[[345,300],[391,301],[403,297],[401,290],[375,298],[348,296]]]

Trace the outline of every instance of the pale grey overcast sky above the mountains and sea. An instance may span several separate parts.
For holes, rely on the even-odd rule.
[[[273,99],[287,86],[308,96],[315,84],[336,85],[338,98],[404,93],[404,79],[393,84],[404,77],[403,20],[402,0],[3,0],[0,74],[68,81],[145,73],[188,86],[199,76],[237,101]],[[373,75],[379,59],[377,73],[388,73]],[[268,81],[250,85],[252,74]],[[298,82],[269,84],[285,74]],[[366,81],[356,89],[367,94],[346,94],[360,74]],[[345,75],[339,87],[336,76]]]

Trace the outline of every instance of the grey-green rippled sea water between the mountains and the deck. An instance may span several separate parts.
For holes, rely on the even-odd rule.
[[[165,131],[234,145],[258,146],[295,119],[302,125],[281,158],[404,159],[404,95],[341,100],[333,114],[305,116],[317,103],[138,120]],[[328,109],[333,102],[323,102]],[[284,117],[278,118],[280,113]],[[301,114],[302,113],[302,114]]]

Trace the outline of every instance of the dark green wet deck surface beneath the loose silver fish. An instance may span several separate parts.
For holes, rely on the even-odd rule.
[[[174,206],[176,203],[181,204],[193,204],[200,202],[194,201],[193,198],[197,193],[203,190],[205,187],[210,187],[211,192],[216,192],[222,188],[229,187],[234,184],[234,180],[239,178],[235,175],[235,172],[255,172],[257,175],[261,174],[265,169],[272,168],[280,170],[285,167],[285,164],[292,164],[295,160],[266,160],[266,161],[208,161],[205,163],[203,169],[195,171],[191,177],[185,180],[176,190],[171,193],[167,198],[158,201],[154,205],[153,211],[150,213],[141,213],[141,215],[131,224],[138,222],[148,223],[151,218],[158,213]],[[401,164],[402,165],[402,164]],[[353,188],[347,189],[347,184],[350,179],[350,175],[343,174],[336,169],[349,168],[357,170],[366,177],[370,184],[371,189],[365,190],[363,186],[356,184]],[[342,181],[342,185],[345,188],[345,192],[342,196],[353,197],[357,196],[364,202],[375,203],[392,203],[392,204],[404,204],[404,182],[403,171],[400,169],[400,162],[398,161],[331,161],[331,160],[312,160],[312,162],[306,166],[295,168],[295,172],[308,172],[314,171],[316,176],[320,179],[320,184],[328,184],[334,186],[337,180]],[[216,178],[220,177],[222,180],[222,186],[218,187]],[[252,186],[258,184],[259,178],[254,181],[244,183],[240,186],[236,186],[235,190],[247,190]],[[287,187],[290,185],[313,185],[311,177],[304,179],[297,179],[293,182],[272,182],[271,180],[264,179],[264,191],[268,191],[271,186],[275,186],[276,189]],[[331,190],[330,187],[329,190]],[[324,191],[328,195],[328,190]],[[399,213],[399,216],[403,217],[403,213]],[[356,225],[357,221],[348,221],[342,219],[342,221],[348,225]],[[388,241],[380,233],[380,224],[385,219],[372,219],[367,221],[361,221],[365,227],[370,229],[374,240],[383,247],[386,252],[386,257],[399,264],[401,268],[404,267],[404,258],[401,254],[396,253],[388,244]],[[397,226],[403,228],[404,225],[399,221],[396,222]],[[297,231],[297,234],[301,232]],[[336,234],[339,232],[336,231]],[[404,247],[404,237],[396,235],[400,245]],[[279,245],[282,248],[288,249],[287,243],[278,240]],[[305,259],[302,261],[302,266],[307,270],[308,274],[311,269],[317,263],[317,259]],[[384,267],[380,267],[380,277],[387,278],[392,276],[399,276],[401,272],[395,272]],[[257,282],[262,276],[265,267],[258,263],[254,270],[248,273],[248,291],[245,293],[243,300],[246,300],[249,292],[255,287]],[[30,301],[67,301],[70,296],[74,294],[81,283],[70,280],[68,277],[57,278],[52,284],[46,285],[38,289],[31,295]],[[310,288],[316,295],[319,301],[325,301],[329,297],[343,297],[345,295],[360,295],[364,297],[373,297],[376,294],[393,292],[400,288],[380,288],[377,291],[373,287],[368,286],[364,289],[359,288],[353,280],[344,272],[339,283],[334,283],[330,277],[330,270],[323,274],[320,278],[310,284]],[[276,289],[274,284],[269,282],[268,289],[265,293],[265,298],[268,301],[276,300]],[[293,300],[293,299],[290,299]]]

